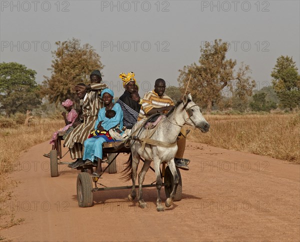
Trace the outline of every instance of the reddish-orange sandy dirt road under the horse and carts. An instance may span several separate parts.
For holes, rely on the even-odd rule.
[[[127,200],[128,189],[98,191],[95,204],[80,208],[78,171],[59,166],[50,177],[42,156],[47,142],[22,155],[12,179],[21,181],[13,199],[20,225],[2,229],[13,241],[299,241],[299,165],[188,142],[190,170],[181,171],[183,198],[164,212],[155,209],[155,187],[144,189],[147,209]],[[120,163],[128,156],[118,158]],[[21,170],[23,169],[23,170]],[[103,175],[106,186],[124,185],[119,174]],[[154,180],[149,171],[145,183]],[[126,182],[125,184],[130,184]],[[165,200],[164,190],[161,190]]]

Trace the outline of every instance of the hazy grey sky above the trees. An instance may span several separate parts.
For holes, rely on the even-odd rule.
[[[22,63],[41,82],[55,41],[75,37],[101,56],[103,80],[116,96],[123,92],[118,75],[128,71],[143,95],[157,78],[178,85],[178,69],[198,61],[201,43],[221,38],[230,43],[227,57],[250,65],[260,89],[278,56],[299,66],[299,2],[0,0],[0,62]]]

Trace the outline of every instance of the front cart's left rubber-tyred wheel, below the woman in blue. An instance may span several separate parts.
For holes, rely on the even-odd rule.
[[[77,200],[81,207],[92,205],[92,183],[87,172],[78,173],[77,176]]]

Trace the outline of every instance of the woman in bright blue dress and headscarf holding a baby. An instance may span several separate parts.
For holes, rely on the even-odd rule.
[[[99,110],[98,118],[95,122],[94,128],[101,131],[108,131],[110,128],[119,125],[119,129],[123,128],[123,111],[118,103],[114,103],[113,91],[111,89],[105,88],[101,91],[101,98],[104,102],[104,107]],[[107,110],[114,110],[114,117],[105,117],[105,112]],[[94,163],[97,160],[96,174],[100,175],[102,173],[102,143],[114,141],[111,137],[107,136],[108,132],[102,135],[93,136],[84,141],[84,153],[83,160],[84,164]]]

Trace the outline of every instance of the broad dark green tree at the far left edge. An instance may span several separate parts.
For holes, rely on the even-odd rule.
[[[17,111],[25,112],[41,103],[35,74],[35,70],[16,62],[0,63],[0,109],[7,116]]]

